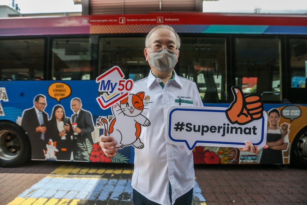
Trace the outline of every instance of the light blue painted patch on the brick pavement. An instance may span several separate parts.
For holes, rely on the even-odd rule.
[[[127,179],[45,177],[25,190],[18,197],[132,201],[132,191],[131,180]],[[197,197],[200,201],[206,201],[196,181],[193,189],[193,196]]]

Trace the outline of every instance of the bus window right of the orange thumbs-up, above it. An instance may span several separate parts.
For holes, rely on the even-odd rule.
[[[235,85],[264,102],[281,101],[280,40],[235,38]]]

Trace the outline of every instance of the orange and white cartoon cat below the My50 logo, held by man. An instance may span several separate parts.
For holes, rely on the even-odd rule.
[[[144,109],[144,96],[144,92],[131,93],[119,104],[114,104],[112,106],[114,117],[110,123],[108,123],[107,118],[100,118],[100,121],[104,124],[104,135],[114,138],[114,141],[117,142],[116,148],[122,149],[130,145],[138,149],[144,148],[144,144],[139,138],[141,126],[147,127],[151,124],[150,120],[141,114]]]

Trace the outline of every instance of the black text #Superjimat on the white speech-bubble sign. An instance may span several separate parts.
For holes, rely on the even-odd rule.
[[[224,123],[223,126],[208,126],[208,125],[195,125],[192,123],[183,123],[183,122],[177,122],[174,127],[175,131],[181,132],[182,130],[185,130],[187,132],[200,132],[203,136],[204,133],[211,132],[211,133],[221,133],[221,136],[225,136],[225,134],[245,134],[245,135],[257,135],[256,126],[253,127],[235,127],[230,126],[230,124]]]

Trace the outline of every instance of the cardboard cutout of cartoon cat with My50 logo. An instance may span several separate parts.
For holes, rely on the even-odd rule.
[[[96,82],[99,82],[99,91],[105,92],[97,98],[97,102],[102,109],[111,107],[113,114],[110,122],[105,117],[100,118],[100,121],[104,126],[104,135],[112,136],[117,142],[116,148],[122,149],[132,145],[142,149],[144,144],[139,138],[142,126],[151,124],[150,120],[141,114],[144,109],[145,92],[128,94],[133,88],[133,81],[122,80],[124,77],[122,70],[118,66],[113,66],[96,78]]]

